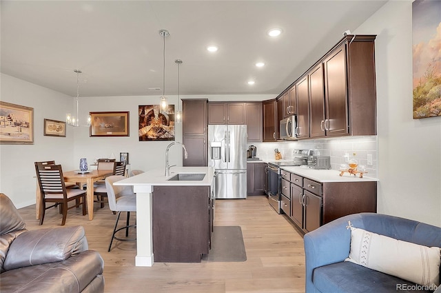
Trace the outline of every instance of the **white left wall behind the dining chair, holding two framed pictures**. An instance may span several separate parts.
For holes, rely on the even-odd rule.
[[[17,208],[35,203],[34,161],[55,160],[71,169],[73,130],[66,137],[43,136],[43,119],[65,120],[72,98],[1,74],[1,101],[34,108],[34,144],[0,145],[0,192],[8,195]]]

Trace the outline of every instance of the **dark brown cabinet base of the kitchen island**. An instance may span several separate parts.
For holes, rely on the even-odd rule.
[[[198,263],[209,252],[214,219],[210,186],[154,186],[154,261]]]

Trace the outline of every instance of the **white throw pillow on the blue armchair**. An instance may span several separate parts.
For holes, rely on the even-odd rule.
[[[398,276],[423,286],[440,285],[440,247],[427,247],[351,228],[351,252],[345,261]]]

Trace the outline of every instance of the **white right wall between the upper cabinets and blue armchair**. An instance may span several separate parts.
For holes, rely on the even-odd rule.
[[[378,35],[378,212],[441,226],[441,117],[412,119],[412,1],[389,1],[355,33]]]

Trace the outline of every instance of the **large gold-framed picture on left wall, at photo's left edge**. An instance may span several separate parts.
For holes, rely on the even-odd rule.
[[[0,143],[34,143],[34,108],[0,101]]]

